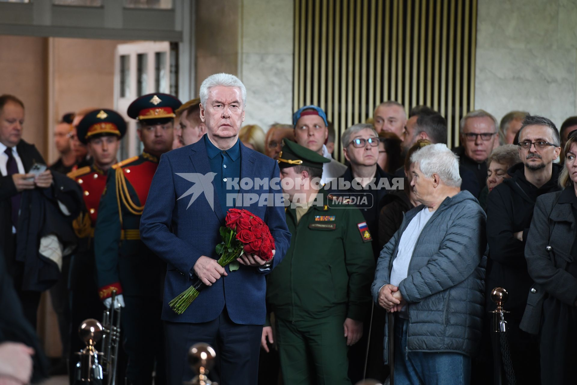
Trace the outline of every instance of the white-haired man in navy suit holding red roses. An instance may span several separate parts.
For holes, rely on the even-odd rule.
[[[246,89],[237,77],[209,76],[200,86],[200,101],[207,134],[160,158],[140,220],[140,236],[167,262],[162,319],[168,383],[179,385],[192,378],[186,353],[194,343],[207,342],[218,354],[220,383],[254,385],[266,313],[265,275],[280,263],[290,244],[279,166],[238,140]],[[256,178],[272,183],[231,183]],[[231,199],[237,195],[242,201]],[[263,200],[249,205],[248,196],[266,196],[269,205],[259,204]],[[267,223],[276,245],[272,261],[243,255],[239,269],[232,272],[216,262],[219,227],[232,207],[245,208]],[[168,302],[188,289],[194,276],[208,287],[177,315]]]

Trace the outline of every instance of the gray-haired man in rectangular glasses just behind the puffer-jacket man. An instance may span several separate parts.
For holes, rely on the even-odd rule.
[[[459,156],[459,165],[475,174],[479,186],[485,185],[486,160],[499,135],[498,127],[497,119],[485,110],[471,111],[460,121],[461,145],[453,152]],[[478,192],[475,197],[478,197]]]

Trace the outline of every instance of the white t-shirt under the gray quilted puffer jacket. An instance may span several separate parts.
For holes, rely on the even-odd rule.
[[[393,261],[393,268],[391,270],[391,285],[399,286],[399,283],[407,278],[409,264],[411,263],[417,240],[421,235],[423,227],[429,222],[433,214],[434,211],[429,211],[428,207],[423,208],[423,210],[419,211],[418,214],[411,219],[409,226],[407,226],[403,234],[401,234],[397,256]],[[403,306],[399,316],[407,317],[406,308],[407,306]]]

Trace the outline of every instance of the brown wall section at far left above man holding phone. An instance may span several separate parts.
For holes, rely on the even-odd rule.
[[[44,157],[47,155],[47,40],[0,35],[0,94],[12,94],[24,102],[24,140],[35,144]]]

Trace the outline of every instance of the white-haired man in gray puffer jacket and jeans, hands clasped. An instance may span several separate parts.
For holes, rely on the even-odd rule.
[[[374,301],[395,312],[395,385],[469,384],[484,312],[485,212],[460,191],[447,146],[428,145],[411,162],[422,204],[384,246],[371,287]],[[388,338],[385,327],[385,364]]]

